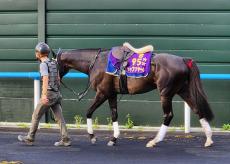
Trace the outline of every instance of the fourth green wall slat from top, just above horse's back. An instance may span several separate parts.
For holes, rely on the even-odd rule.
[[[63,48],[110,48],[125,41],[134,46],[153,44],[156,50],[230,50],[230,38],[204,37],[49,37],[47,41],[54,47]],[[1,42],[1,39],[0,39]],[[0,46],[1,47],[1,46]]]

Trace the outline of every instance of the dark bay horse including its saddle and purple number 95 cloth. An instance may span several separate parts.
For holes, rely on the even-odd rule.
[[[213,113],[203,91],[196,63],[192,59],[166,53],[152,55],[152,51],[151,46],[135,49],[125,43],[111,51],[81,49],[57,55],[60,77],[70,69],[78,70],[89,76],[90,87],[96,91],[95,99],[86,114],[91,142],[96,142],[92,115],[101,104],[108,100],[114,129],[108,146],[113,146],[120,134],[117,94],[141,94],[157,89],[163,108],[163,123],[156,137],[146,147],[153,147],[164,139],[173,118],[172,99],[176,94],[198,115],[207,138],[204,146],[211,146],[213,141],[209,121]]]

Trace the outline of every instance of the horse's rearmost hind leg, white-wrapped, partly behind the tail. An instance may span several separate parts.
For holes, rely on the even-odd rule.
[[[189,90],[187,89],[187,87],[182,92],[180,92],[179,95],[189,105],[189,107],[196,114],[198,114],[198,116],[200,118],[201,127],[203,128],[203,131],[206,135],[206,142],[205,142],[204,146],[205,147],[212,146],[212,144],[214,143],[212,140],[212,129],[211,129],[208,121],[203,117],[203,115],[201,113],[199,113],[197,109],[195,109],[194,102],[192,102],[192,99],[190,98]]]

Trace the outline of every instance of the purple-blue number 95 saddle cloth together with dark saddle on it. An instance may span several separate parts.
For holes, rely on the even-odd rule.
[[[124,47],[114,47],[108,55],[106,73],[140,78],[148,76],[151,68],[152,52],[137,54]]]

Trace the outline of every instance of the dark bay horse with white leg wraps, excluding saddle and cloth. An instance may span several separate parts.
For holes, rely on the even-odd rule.
[[[106,73],[109,52],[110,50],[100,49],[72,50],[65,51],[56,58],[61,78],[70,69],[78,70],[89,75],[90,86],[96,91],[95,99],[86,114],[87,131],[92,143],[96,142],[92,128],[92,115],[101,104],[108,100],[114,129],[114,135],[108,142],[108,146],[113,146],[120,134],[117,121],[117,95],[120,93],[120,87],[119,77]],[[94,63],[93,66],[92,63]],[[163,124],[156,137],[149,141],[146,147],[153,147],[164,139],[173,118],[172,99],[176,94],[199,116],[207,137],[205,147],[213,144],[212,130],[209,126],[213,113],[202,88],[198,67],[192,59],[165,53],[154,54],[149,75],[143,78],[127,77],[127,88],[129,94],[141,94],[154,89],[160,93],[164,113]]]

